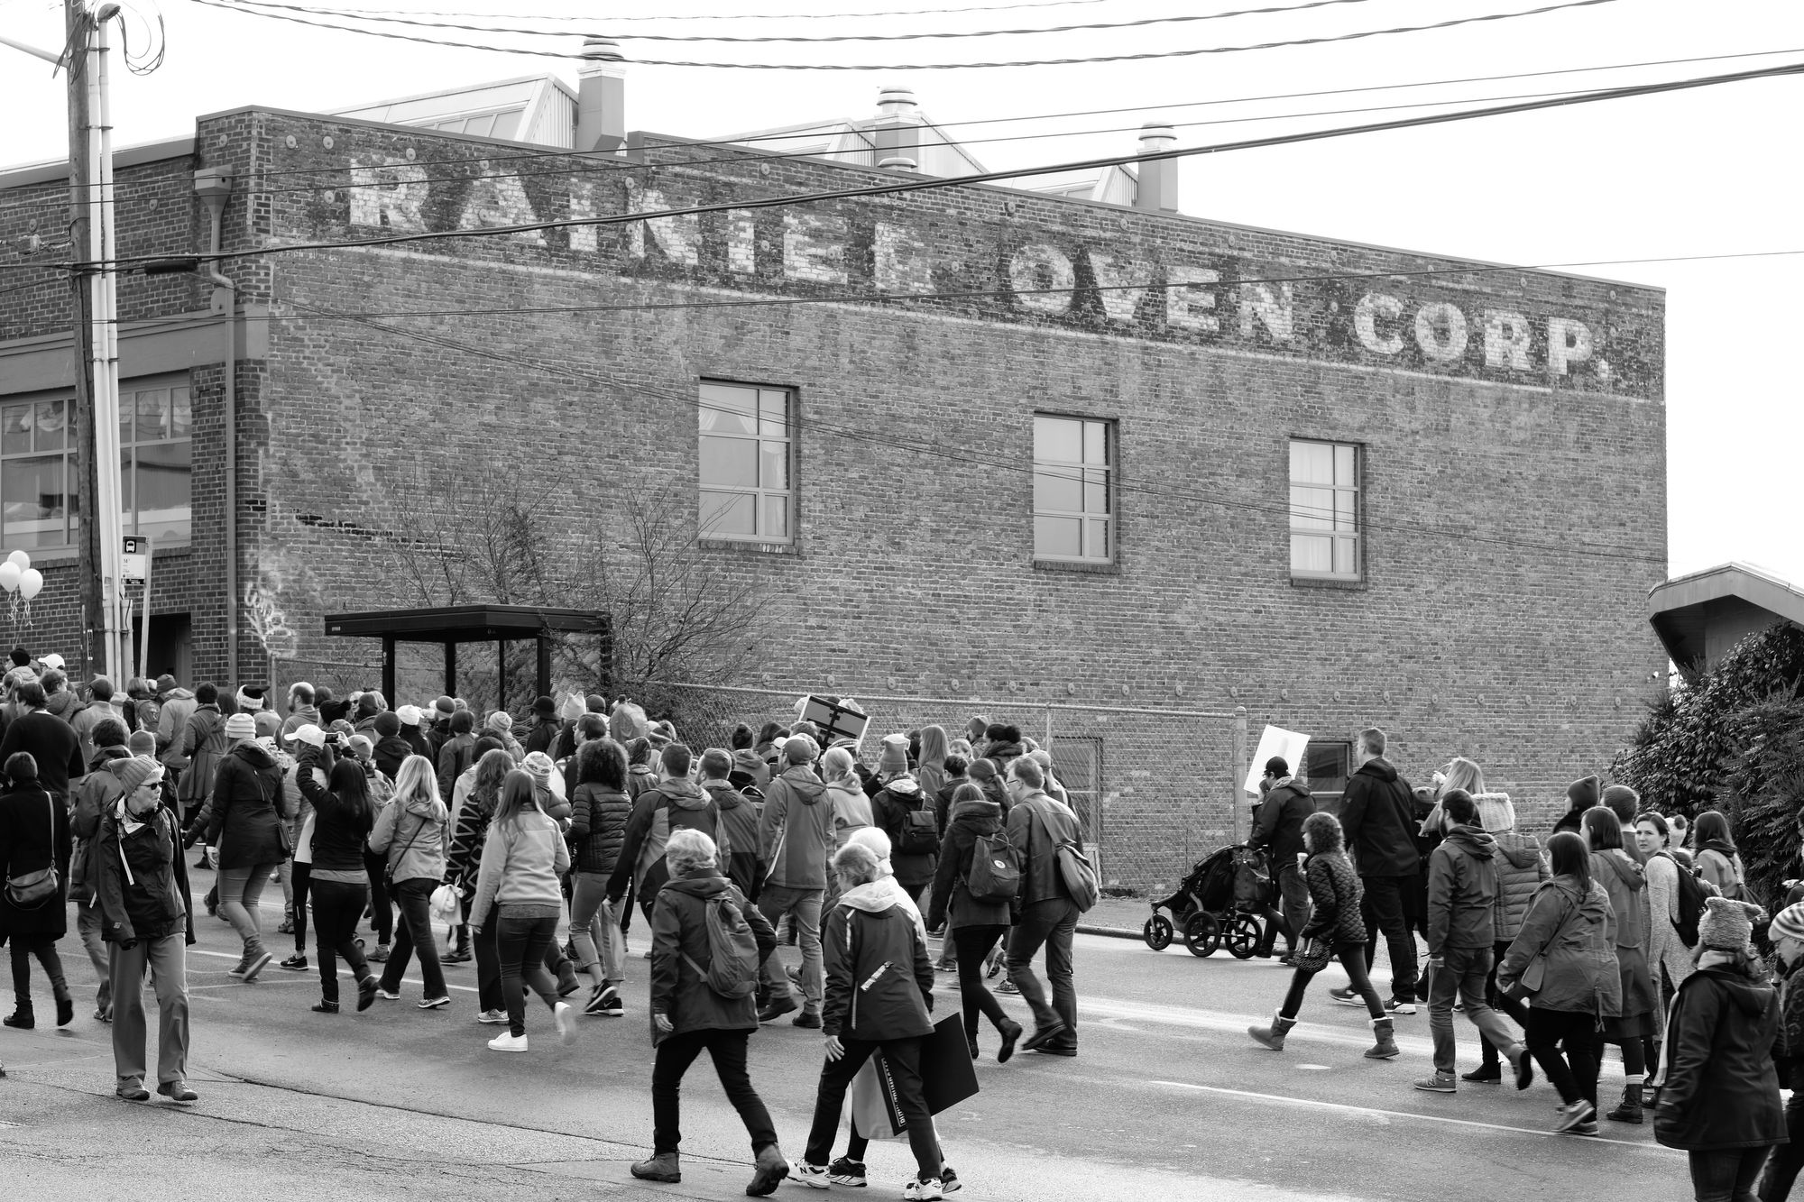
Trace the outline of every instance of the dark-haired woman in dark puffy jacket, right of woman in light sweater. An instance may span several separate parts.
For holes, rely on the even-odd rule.
[[[570,798],[570,944],[577,967],[588,973],[584,1014],[621,1018],[621,982],[626,980],[626,949],[621,926],[608,906],[608,877],[621,859],[626,819],[633,803],[626,796],[626,749],[612,738],[592,738],[575,753],[575,792]]]

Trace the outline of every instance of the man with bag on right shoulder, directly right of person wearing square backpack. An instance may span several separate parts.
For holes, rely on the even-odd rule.
[[[1021,917],[1008,933],[1008,982],[1034,1011],[1034,1034],[1021,1041],[1028,1052],[1077,1056],[1077,987],[1072,982],[1072,937],[1079,910],[1061,866],[1061,848],[1082,846],[1082,830],[1072,807],[1045,792],[1045,776],[1032,760],[1008,765],[1008,845],[1021,852]],[[1052,1003],[1030,967],[1046,949],[1046,980]]]

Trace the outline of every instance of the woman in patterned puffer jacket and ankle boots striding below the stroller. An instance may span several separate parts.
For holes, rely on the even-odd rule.
[[[1322,967],[1326,957],[1315,967],[1304,967],[1302,957],[1315,940],[1326,944],[1326,951],[1340,960],[1348,971],[1348,982],[1360,998],[1366,1000],[1366,1012],[1371,1014],[1371,1032],[1376,1043],[1366,1049],[1367,1059],[1391,1059],[1400,1054],[1394,1038],[1394,1022],[1378,1000],[1378,991],[1366,973],[1366,920],[1360,919],[1360,902],[1366,888],[1360,884],[1353,861],[1348,859],[1346,834],[1340,819],[1326,810],[1302,819],[1302,848],[1308,861],[1302,865],[1302,881],[1310,886],[1313,910],[1308,926],[1302,928],[1297,944],[1297,969],[1290,975],[1290,991],[1284,1003],[1272,1014],[1270,1027],[1248,1027],[1257,1043],[1274,1052],[1284,1050],[1284,1036],[1297,1025],[1297,1011],[1302,1009],[1302,994]]]

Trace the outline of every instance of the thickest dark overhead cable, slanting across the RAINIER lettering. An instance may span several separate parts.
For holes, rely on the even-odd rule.
[[[570,227],[577,227],[577,226],[621,226],[621,224],[626,224],[626,222],[655,220],[655,218],[660,218],[660,217],[691,217],[691,215],[702,215],[702,213],[725,213],[729,209],[772,209],[772,208],[788,208],[788,206],[796,206],[796,204],[815,204],[815,202],[821,202],[821,200],[855,200],[855,199],[862,199],[862,197],[891,197],[891,195],[902,195],[902,193],[911,193],[911,191],[936,191],[936,190],[945,190],[945,188],[969,188],[972,184],[989,184],[989,182],[999,182],[999,180],[1010,180],[1010,179],[1030,179],[1034,175],[1048,175],[1052,171],[1088,171],[1088,170],[1100,170],[1100,168],[1106,168],[1106,166],[1122,166],[1122,164],[1129,164],[1129,162],[1165,162],[1165,161],[1174,161],[1174,159],[1191,159],[1191,157],[1198,157],[1198,155],[1227,153],[1227,152],[1234,152],[1234,150],[1261,150],[1261,148],[1270,148],[1270,146],[1295,146],[1295,144],[1301,144],[1301,143],[1328,141],[1328,139],[1333,139],[1333,137],[1351,137],[1351,135],[1357,135],[1357,134],[1384,134],[1384,132],[1411,130],[1411,128],[1420,128],[1420,126],[1429,126],[1429,125],[1452,125],[1452,123],[1458,123],[1458,121],[1476,121],[1476,119],[1481,119],[1481,117],[1501,117],[1501,116],[1512,116],[1512,114],[1542,112],[1542,110],[1550,110],[1550,108],[1568,108],[1568,106],[1573,106],[1573,105],[1593,105],[1593,103],[1613,101],[1613,99],[1629,99],[1629,97],[1640,97],[1640,96],[1660,96],[1660,94],[1665,94],[1665,92],[1681,92],[1681,90],[1694,90],[1694,88],[1705,88],[1705,87],[1719,87],[1719,85],[1725,85],[1725,83],[1746,83],[1746,81],[1752,81],[1752,79],[1777,79],[1777,78],[1797,76],[1797,74],[1804,74],[1804,63],[1782,63],[1782,65],[1777,65],[1777,67],[1759,67],[1759,69],[1753,69],[1753,70],[1741,70],[1741,72],[1723,74],[1723,76],[1698,76],[1698,78],[1692,78],[1692,79],[1672,79],[1672,81],[1663,81],[1663,83],[1642,83],[1642,85],[1633,85],[1633,87],[1624,87],[1624,88],[1611,88],[1611,90],[1606,90],[1606,92],[1586,92],[1582,96],[1562,96],[1562,97],[1555,97],[1555,99],[1521,101],[1521,103],[1515,103],[1515,105],[1497,105],[1497,106],[1490,106],[1490,108],[1461,108],[1461,110],[1456,110],[1456,112],[1422,114],[1422,116],[1414,116],[1414,117],[1398,117],[1394,121],[1371,121],[1371,123],[1366,123],[1366,125],[1342,125],[1342,126],[1331,126],[1331,128],[1326,128],[1326,130],[1308,130],[1308,132],[1301,132],[1301,134],[1274,134],[1270,137],[1252,137],[1252,139],[1243,139],[1243,141],[1236,141],[1236,143],[1216,143],[1216,144],[1209,144],[1209,146],[1178,146],[1178,148],[1173,148],[1173,150],[1160,150],[1160,152],[1151,152],[1151,153],[1108,155],[1108,157],[1102,157],[1102,159],[1084,159],[1084,161],[1077,161],[1077,162],[1055,162],[1055,164],[1041,164],[1041,166],[1028,166],[1028,168],[1010,168],[1010,170],[1005,170],[1005,171],[985,171],[981,175],[900,179],[900,180],[886,180],[886,182],[880,182],[880,184],[866,184],[866,186],[861,186],[861,188],[839,188],[839,190],[832,190],[832,191],[788,193],[788,195],[778,195],[778,197],[740,197],[740,199],[734,199],[734,200],[720,200],[720,202],[713,202],[713,204],[691,204],[691,206],[671,208],[671,209],[657,209],[657,211],[648,211],[648,213],[619,213],[619,215],[608,215],[608,217],[570,217],[570,218],[556,218],[556,220],[541,220],[541,222],[523,222],[523,224],[514,224],[514,226],[489,226],[489,227],[483,227],[483,229],[428,229],[428,231],[419,231],[419,233],[384,235],[384,236],[379,236],[379,238],[343,238],[343,240],[336,240],[336,242],[296,242],[296,244],[285,244],[285,245],[256,247],[256,249],[249,249],[249,251],[222,251],[222,253],[216,253],[216,254],[207,253],[207,254],[202,254],[200,258],[204,258],[204,260],[224,260],[224,258],[236,260],[236,258],[260,258],[260,256],[265,256],[265,254],[289,254],[289,253],[294,253],[294,251],[330,251],[330,249],[359,247],[359,245],[395,245],[395,244],[404,244],[404,242],[442,242],[446,238],[471,238],[471,236],[500,238],[500,236],[509,236],[509,235],[516,235],[516,233],[534,233],[534,231],[543,231],[543,229],[570,229]],[[747,161],[749,162],[756,162],[756,157],[752,153],[749,153]],[[143,262],[150,262],[150,260],[155,260],[155,258],[166,258],[166,256],[162,256],[162,254],[124,254],[124,256],[117,256],[114,262],[115,264],[143,264]],[[74,267],[78,264],[65,264],[65,265]],[[81,264],[81,265],[88,265],[88,264]]]

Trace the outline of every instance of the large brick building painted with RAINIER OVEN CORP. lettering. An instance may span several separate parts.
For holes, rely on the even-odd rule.
[[[153,668],[222,677],[229,606],[244,679],[348,659],[323,614],[415,601],[377,570],[413,538],[395,482],[492,467],[559,482],[559,554],[619,534],[624,495],[678,498],[713,570],[774,597],[767,682],[1245,706],[1254,738],[1317,735],[1328,789],[1376,722],[1405,771],[1472,756],[1539,816],[1663,679],[1660,291],[1183,217],[1169,179],[1149,208],[985,184],[734,208],[909,173],[267,108],[121,152],[123,256],[207,249],[202,168],[235,180],[244,254],[238,552],[224,316],[197,278],[121,276]],[[63,206],[60,164],[0,175],[0,262]],[[691,206],[723,208],[556,224]],[[251,254],[500,226],[525,229]],[[14,637],[67,653],[69,287],[5,282],[0,547],[47,576]],[[770,300],[799,303],[745,303]],[[1128,883],[1171,875],[1174,823],[1229,828],[1221,745],[1185,763],[1122,729],[1153,722],[1100,753],[1138,785],[1091,781]]]

